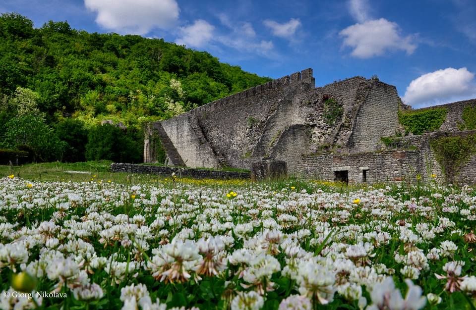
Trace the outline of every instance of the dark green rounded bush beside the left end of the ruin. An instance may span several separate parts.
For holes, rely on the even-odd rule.
[[[86,144],[87,160],[142,162],[142,134],[132,128],[124,131],[114,125],[99,125],[91,129]]]

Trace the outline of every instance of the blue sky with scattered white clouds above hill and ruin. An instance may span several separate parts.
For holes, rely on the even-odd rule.
[[[140,34],[316,86],[377,75],[414,107],[476,98],[476,0],[0,0],[41,27]]]

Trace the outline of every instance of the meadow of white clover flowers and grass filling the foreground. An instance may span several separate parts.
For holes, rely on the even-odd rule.
[[[476,189],[0,166],[1,309],[475,310]]]

